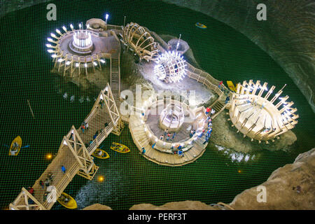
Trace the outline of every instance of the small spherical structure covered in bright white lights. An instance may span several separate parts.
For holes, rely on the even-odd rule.
[[[176,51],[167,51],[158,57],[154,73],[165,83],[177,83],[186,76],[186,61]]]

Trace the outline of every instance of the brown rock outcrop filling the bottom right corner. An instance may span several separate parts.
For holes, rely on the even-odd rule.
[[[272,172],[265,183],[266,202],[258,202],[257,187],[244,190],[230,203],[234,209],[315,209],[315,148],[293,164]]]

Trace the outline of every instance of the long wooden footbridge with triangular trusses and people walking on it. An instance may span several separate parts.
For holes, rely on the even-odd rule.
[[[48,202],[43,198],[45,187],[40,185],[40,181],[44,182],[50,173],[53,175],[50,186],[55,186],[57,197],[61,195],[76,174],[89,180],[93,179],[99,167],[94,164],[92,153],[111,132],[119,135],[123,130],[123,122],[120,119],[109,84],[99,93],[90,114],[84,121],[88,124],[88,130],[83,132],[82,129],[76,130],[74,126],[71,127],[71,130],[62,139],[57,156],[34,183],[34,195],[22,188],[21,193],[10,204],[10,209],[51,209],[55,202]],[[93,139],[96,132],[99,134]],[[66,169],[65,172],[62,172],[62,166]]]

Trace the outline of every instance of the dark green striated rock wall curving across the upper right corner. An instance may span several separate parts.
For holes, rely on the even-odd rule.
[[[240,31],[288,73],[315,112],[314,0],[162,0],[191,8]],[[258,3],[267,20],[258,21]]]

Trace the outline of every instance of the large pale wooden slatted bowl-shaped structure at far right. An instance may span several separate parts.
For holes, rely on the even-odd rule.
[[[268,100],[275,89],[275,86],[268,90],[267,84],[260,85],[260,80],[253,83],[249,80],[237,84],[237,91],[232,94],[230,105],[230,119],[232,126],[237,128],[237,132],[261,141],[279,137],[280,134],[293,129],[297,124],[298,115],[295,114],[297,109],[293,109],[293,102],[286,102],[288,96],[280,97],[284,85],[271,100]],[[259,92],[258,92],[259,90]],[[262,96],[264,92],[265,96]]]

